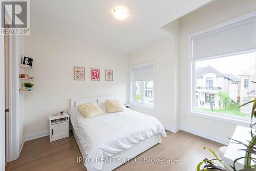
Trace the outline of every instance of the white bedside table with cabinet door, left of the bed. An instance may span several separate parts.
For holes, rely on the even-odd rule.
[[[50,115],[50,142],[69,137],[69,114]]]

